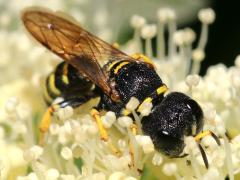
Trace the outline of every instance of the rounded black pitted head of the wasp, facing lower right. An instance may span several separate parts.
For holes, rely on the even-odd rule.
[[[184,136],[196,135],[203,127],[203,112],[196,101],[179,92],[168,94],[142,119],[142,129],[157,150],[179,157],[185,146]]]

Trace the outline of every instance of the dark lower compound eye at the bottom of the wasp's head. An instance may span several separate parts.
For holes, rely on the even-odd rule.
[[[170,157],[179,157],[184,148],[182,139],[173,137],[166,131],[159,131],[153,141],[157,150]]]

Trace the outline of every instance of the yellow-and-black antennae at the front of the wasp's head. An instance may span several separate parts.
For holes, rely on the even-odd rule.
[[[201,152],[201,155],[202,155],[202,158],[203,158],[203,162],[204,162],[204,164],[205,164],[205,166],[206,166],[207,169],[208,169],[208,167],[209,167],[207,155],[206,155],[204,149],[202,148],[200,142],[201,142],[202,138],[204,138],[204,137],[206,137],[206,136],[209,136],[209,135],[213,137],[213,139],[216,141],[216,143],[217,143],[219,146],[221,145],[219,138],[218,138],[212,131],[209,131],[209,130],[208,130],[208,131],[203,131],[203,132],[197,134],[197,135],[194,137],[195,141],[198,143],[198,148],[199,148],[199,150],[200,150],[200,152]]]

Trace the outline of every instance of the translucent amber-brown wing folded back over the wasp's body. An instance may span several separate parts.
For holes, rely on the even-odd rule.
[[[119,100],[102,65],[109,60],[136,60],[54,13],[29,9],[22,14],[22,20],[42,45],[77,68],[113,100]]]

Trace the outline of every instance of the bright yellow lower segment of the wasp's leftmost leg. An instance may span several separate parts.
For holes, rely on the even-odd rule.
[[[52,114],[54,111],[55,111],[54,107],[50,106],[45,112],[45,114],[43,115],[43,118],[40,122],[40,125],[39,125],[39,130],[40,130],[39,144],[40,145],[44,144],[44,135],[49,129],[49,126],[51,124]]]

